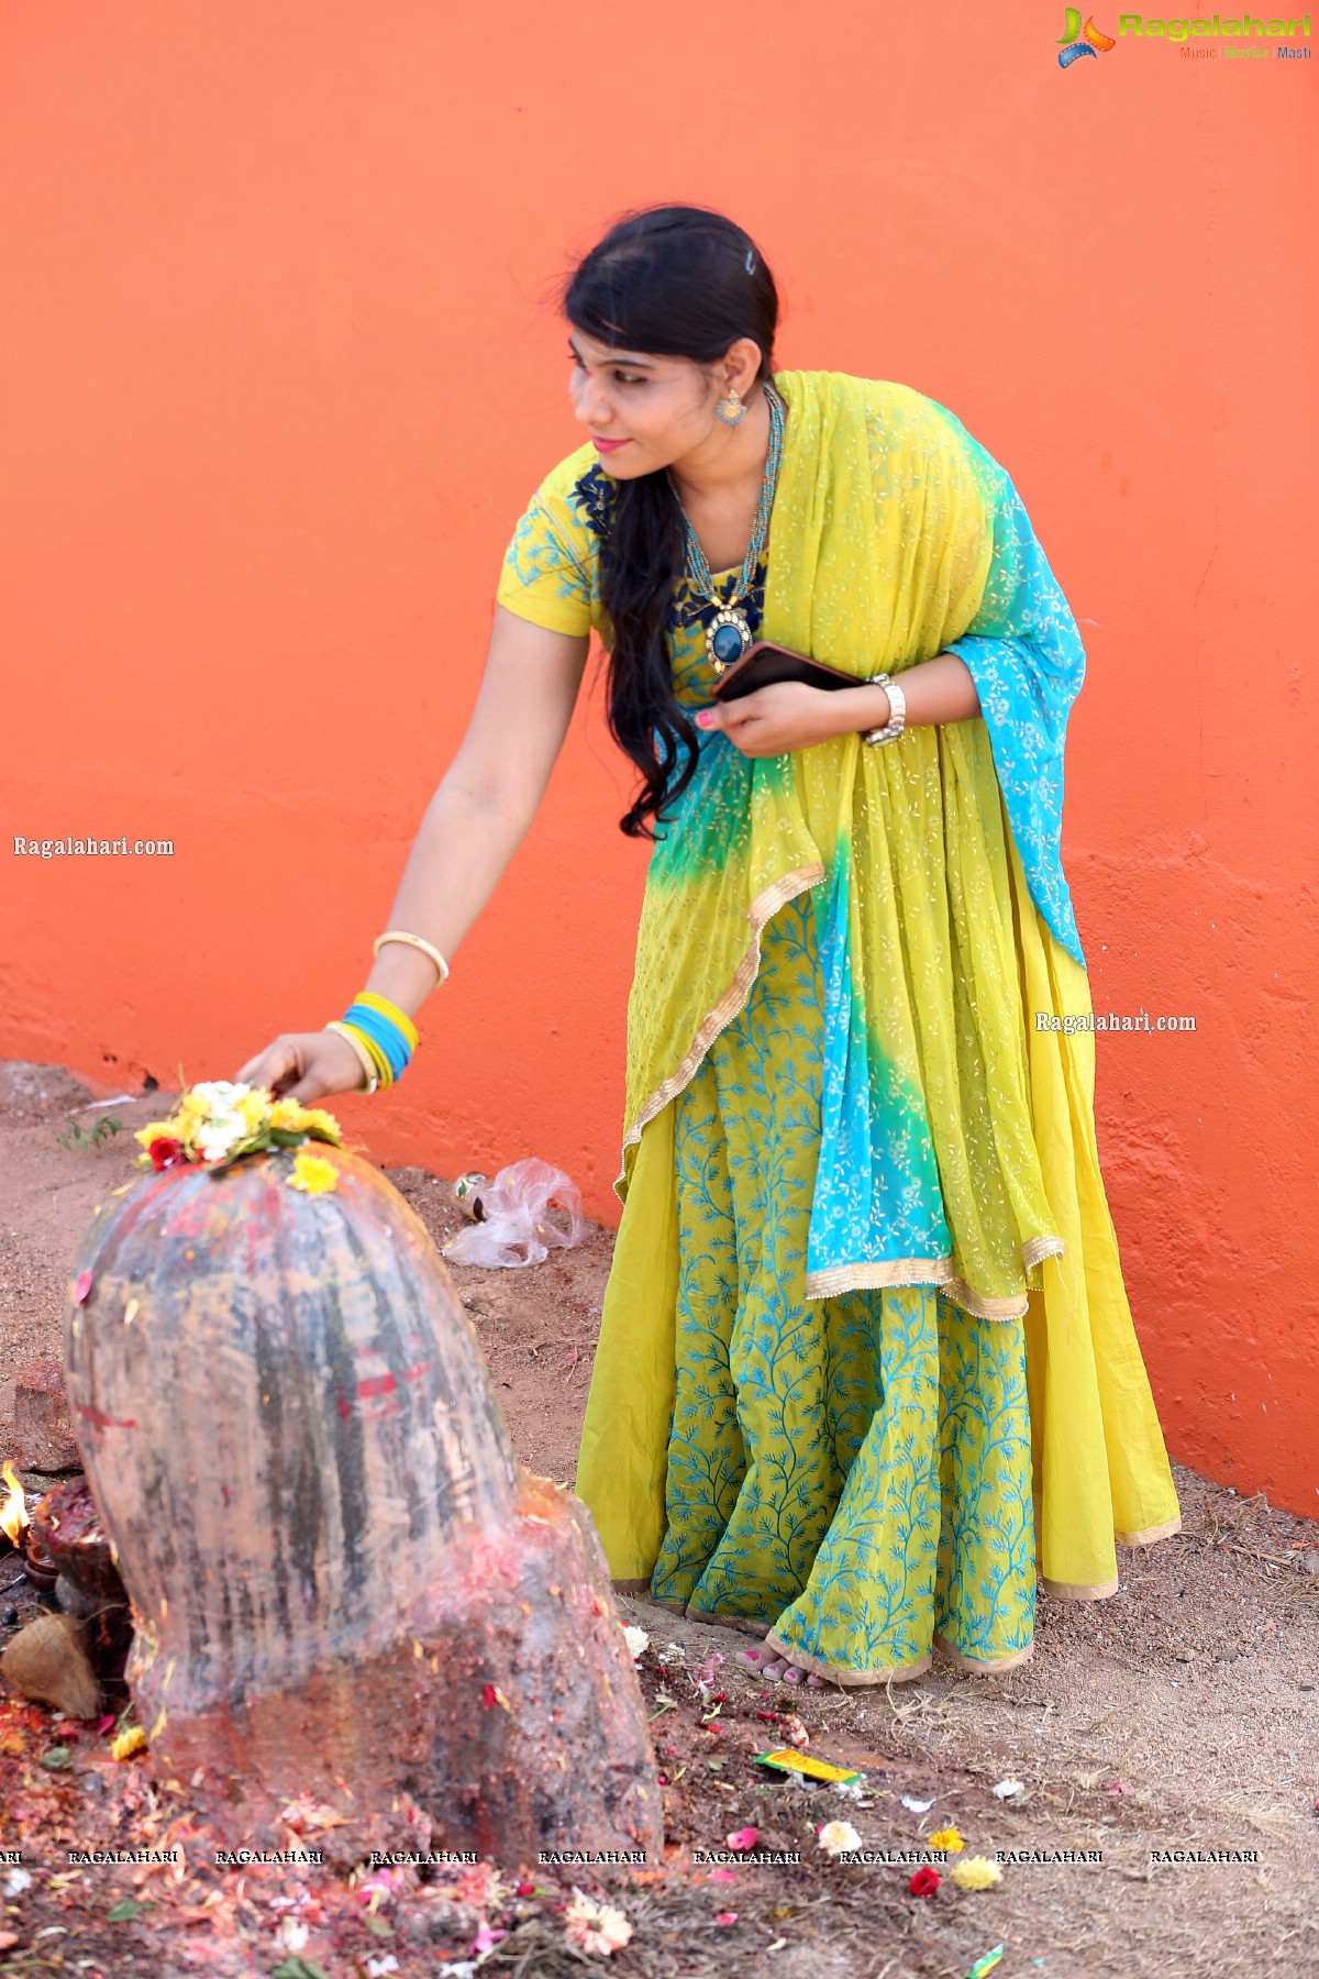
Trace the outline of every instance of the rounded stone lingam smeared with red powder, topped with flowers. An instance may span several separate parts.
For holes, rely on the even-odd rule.
[[[415,1811],[433,1848],[660,1860],[595,1528],[514,1457],[421,1221],[267,1092],[194,1086],[138,1138],[65,1367],[152,1771],[225,1846],[310,1801],[342,1864],[415,1848]]]

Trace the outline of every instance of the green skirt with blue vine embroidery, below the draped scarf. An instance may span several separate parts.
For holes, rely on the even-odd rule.
[[[1022,1320],[935,1286],[805,1296],[823,1083],[811,895],[647,1124],[577,1492],[619,1585],[844,1684],[1034,1641]],[[664,1419],[666,1417],[666,1419]]]

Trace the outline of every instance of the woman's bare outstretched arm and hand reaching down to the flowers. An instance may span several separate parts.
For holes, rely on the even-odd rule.
[[[417,827],[382,932],[405,928],[453,960],[540,807],[577,701],[587,643],[585,633],[548,631],[494,606],[473,718]],[[386,942],[366,988],[411,1017],[435,980],[435,964],[421,950]],[[283,1033],[235,1077],[297,1100],[364,1084],[362,1065],[338,1031]]]

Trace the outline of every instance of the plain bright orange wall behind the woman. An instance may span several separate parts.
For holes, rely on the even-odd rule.
[[[1115,34],[1115,16],[1107,30]],[[498,560],[579,441],[546,301],[623,206],[722,206],[779,362],[1003,459],[1090,651],[1066,863],[1099,1144],[1169,1447],[1319,1514],[1315,67],[1062,8],[10,0],[0,14],[0,1051],[229,1077],[364,980]],[[1222,44],[1220,44],[1222,47]],[[645,853],[579,714],[376,1152],[617,1205]],[[1299,1160],[1297,1160],[1299,1156]]]

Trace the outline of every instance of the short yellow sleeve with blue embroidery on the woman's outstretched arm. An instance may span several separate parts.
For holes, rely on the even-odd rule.
[[[597,621],[599,536],[591,520],[599,503],[593,475],[599,469],[591,445],[560,461],[532,495],[504,552],[494,598],[550,631],[585,633]]]

